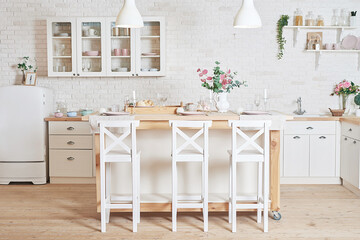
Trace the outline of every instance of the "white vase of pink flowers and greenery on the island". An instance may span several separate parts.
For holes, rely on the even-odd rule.
[[[227,94],[235,87],[244,85],[245,81],[234,80],[237,72],[231,72],[230,69],[223,71],[220,69],[220,62],[215,62],[213,73],[210,75],[207,69],[198,69],[201,86],[209,89],[215,94],[214,100],[216,102],[216,108],[219,112],[227,112],[230,104],[227,101]]]

